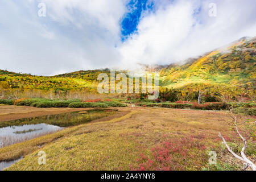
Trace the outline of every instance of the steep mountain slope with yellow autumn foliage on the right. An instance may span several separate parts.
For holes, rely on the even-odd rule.
[[[196,84],[242,86],[254,89],[256,38],[241,38],[184,65],[172,64],[160,71],[161,85],[183,88]]]

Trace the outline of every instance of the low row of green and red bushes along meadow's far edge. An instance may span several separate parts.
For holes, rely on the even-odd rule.
[[[180,102],[179,102],[180,103]],[[166,107],[166,108],[175,108],[175,109],[201,109],[201,110],[226,110],[228,109],[228,105],[223,102],[208,102],[205,104],[196,104],[196,103],[170,103],[170,102],[141,102],[138,105],[143,107]],[[84,108],[84,107],[126,107],[126,104],[122,104],[119,102],[81,102],[80,100],[68,100],[68,101],[60,101],[60,100],[49,100],[45,98],[23,98],[20,100],[8,100],[1,99],[0,104],[5,105],[19,105],[19,106],[33,106],[33,107],[72,107],[72,108]],[[234,108],[234,112],[236,113],[244,113],[248,115],[256,115],[255,114],[255,103],[230,103]]]

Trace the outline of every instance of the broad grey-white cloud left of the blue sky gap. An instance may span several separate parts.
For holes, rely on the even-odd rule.
[[[118,59],[120,0],[0,2],[0,69],[36,75],[105,68]],[[3,27],[3,28],[2,28]],[[3,61],[5,60],[5,61]]]

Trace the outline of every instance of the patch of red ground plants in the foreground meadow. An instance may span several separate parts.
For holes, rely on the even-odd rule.
[[[151,148],[151,155],[141,154],[137,159],[138,166],[130,166],[131,170],[187,170],[189,166],[201,166],[198,159],[208,161],[204,144],[205,135],[191,135],[170,138]]]

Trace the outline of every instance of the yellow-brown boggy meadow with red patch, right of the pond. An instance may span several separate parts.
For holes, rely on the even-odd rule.
[[[0,148],[0,161],[24,159],[9,170],[236,170],[242,164],[229,155],[218,133],[236,138],[220,111],[164,108],[118,108],[115,116],[69,127],[44,137]],[[40,146],[40,148],[39,148]],[[46,152],[46,165],[38,152]],[[209,151],[217,152],[210,166]],[[255,157],[255,146],[248,155]]]

